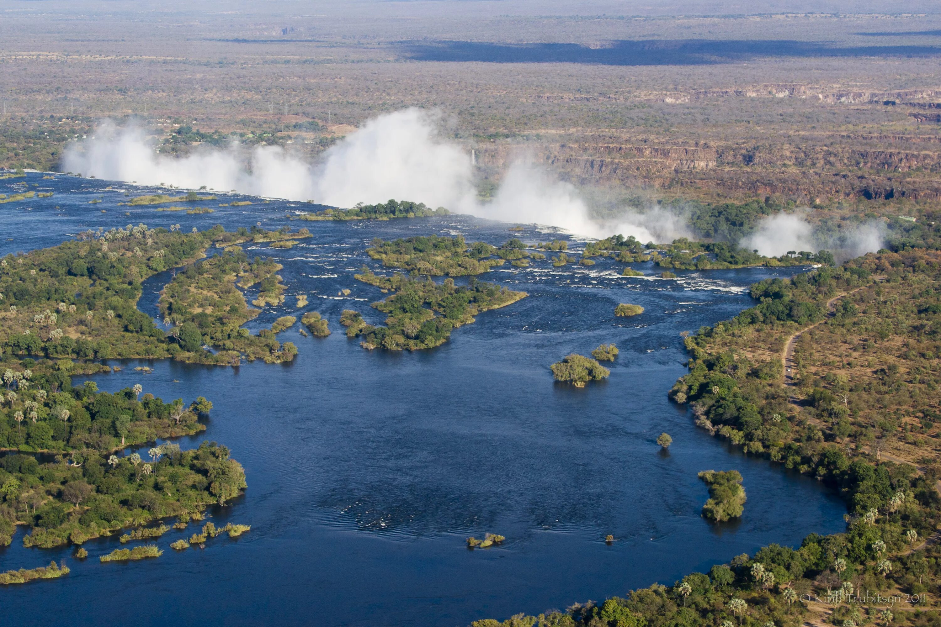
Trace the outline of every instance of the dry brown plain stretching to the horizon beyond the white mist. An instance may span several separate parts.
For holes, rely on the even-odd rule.
[[[315,154],[415,105],[477,150],[485,195],[529,152],[635,203],[941,198],[939,15],[499,4],[116,5],[89,20],[22,3],[0,22],[0,165],[54,165],[66,135],[132,114],[158,136],[190,125]]]

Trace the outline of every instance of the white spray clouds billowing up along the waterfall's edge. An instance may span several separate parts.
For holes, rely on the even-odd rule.
[[[559,227],[575,235],[605,238],[615,233],[643,243],[694,237],[681,213],[652,206],[628,208],[616,218],[596,219],[585,196],[524,156],[512,162],[493,199],[478,199],[469,150],[439,133],[436,113],[404,109],[371,119],[327,149],[316,163],[275,146],[249,149],[197,149],[184,157],[162,155],[136,126],[105,121],[92,138],[73,144],[63,158],[66,170],[105,180],[169,184],[187,189],[235,190],[252,196],[314,200],[335,207],[373,204],[390,198],[423,202],[452,212],[505,222]],[[609,212],[610,214],[610,212]],[[799,214],[764,220],[741,244],[764,255],[821,248],[855,255],[882,246],[877,225],[826,238]]]

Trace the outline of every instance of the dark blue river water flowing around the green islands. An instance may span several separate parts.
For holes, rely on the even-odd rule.
[[[123,192],[104,191],[104,181],[33,174],[28,181],[56,196],[0,205],[0,253],[127,223],[275,228],[286,223],[285,211],[303,209],[272,201],[209,215],[138,208],[129,218],[115,206]],[[104,202],[88,205],[94,197]],[[109,391],[139,383],[165,400],[212,400],[207,431],[179,442],[231,447],[248,490],[213,520],[251,531],[175,553],[169,542],[193,529],[174,530],[160,539],[167,551],[156,560],[101,564],[97,556],[119,546],[117,538],[86,544],[82,562],[72,549],[25,549],[21,530],[0,549],[0,570],[65,558],[72,572],[0,590],[10,624],[99,626],[133,616],[142,625],[466,625],[672,584],[762,544],[793,545],[809,532],[842,528],[835,494],[742,456],[666,399],[685,372],[679,333],[749,306],[744,287],[774,272],[662,280],[618,276],[621,266],[608,259],[591,268],[536,262],[486,275],[530,297],[480,315],[439,349],[367,352],[337,320],[343,308],[380,320],[368,304],[382,294],[352,278],[363,263],[373,265],[364,254],[373,237],[463,233],[502,243],[553,235],[511,233],[466,216],[287,224],[314,237],[291,250],[258,247],[256,254],[282,259],[289,297],[251,325],[284,315],[304,292],[333,335],[302,337],[297,326],[280,334],[298,346],[292,364],[132,361],[93,377]],[[143,310],[155,311],[161,280],[145,285]],[[349,297],[337,296],[343,289]],[[646,312],[615,319],[619,302]],[[552,382],[550,363],[601,342],[621,350],[610,379],[583,390]],[[145,375],[136,365],[156,371]],[[669,453],[654,442],[662,431],[674,438]],[[710,468],[742,472],[748,502],[740,522],[715,526],[700,517],[707,489],[696,473]],[[465,548],[467,536],[486,531],[507,541]],[[609,533],[612,545],[603,541]]]

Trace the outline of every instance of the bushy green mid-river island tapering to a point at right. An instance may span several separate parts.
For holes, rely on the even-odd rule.
[[[373,307],[387,315],[386,326],[362,321],[355,311],[343,311],[341,324],[347,337],[361,336],[366,349],[416,351],[440,346],[451,337],[452,329],[475,321],[474,316],[490,309],[512,305],[528,294],[512,291],[471,276],[468,285],[455,286],[454,279],[440,285],[407,278],[403,274],[381,276],[363,267],[355,277],[370,285],[395,293]]]

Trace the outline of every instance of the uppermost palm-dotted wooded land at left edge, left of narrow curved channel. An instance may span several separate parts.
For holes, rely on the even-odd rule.
[[[50,357],[163,357],[169,347],[136,309],[140,282],[198,256],[202,233],[137,227],[90,231],[0,259],[0,351]]]

